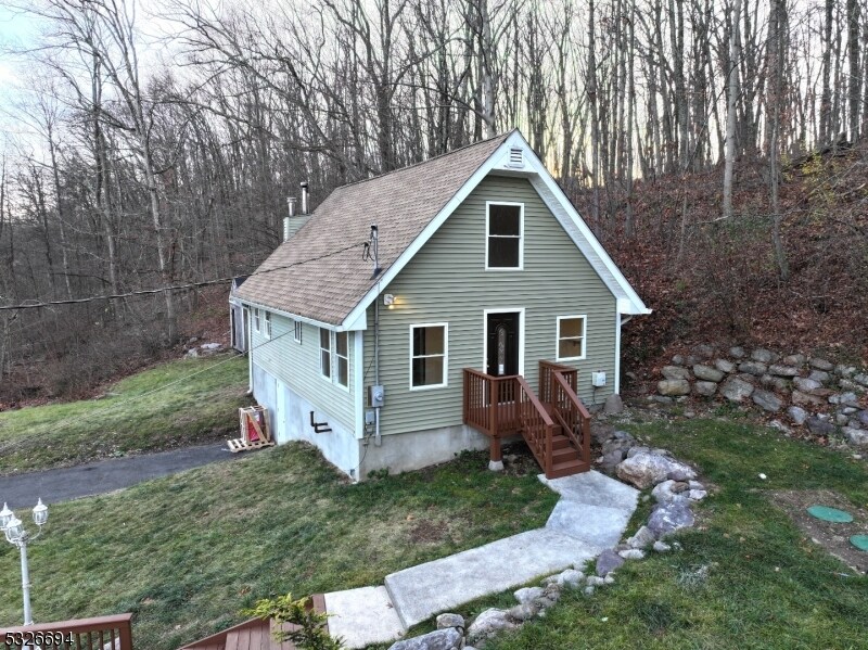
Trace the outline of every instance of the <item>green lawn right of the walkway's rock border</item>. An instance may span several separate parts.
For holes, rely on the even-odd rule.
[[[863,461],[731,421],[624,429],[694,461],[716,486],[698,508],[699,528],[678,535],[682,551],[628,562],[611,587],[567,594],[545,620],[487,650],[868,647],[868,578],[813,544],[770,501],[771,492],[827,488],[865,508]]]

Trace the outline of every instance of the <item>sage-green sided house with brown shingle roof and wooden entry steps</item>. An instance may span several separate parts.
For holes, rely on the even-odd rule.
[[[524,435],[588,469],[586,405],[617,392],[649,314],[518,130],[341,187],[241,285],[251,390],[278,443],[353,477]],[[291,204],[292,214],[292,204]]]

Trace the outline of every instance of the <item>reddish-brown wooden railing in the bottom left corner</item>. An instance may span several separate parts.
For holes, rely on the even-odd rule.
[[[38,623],[35,625],[5,627],[0,630],[0,643],[4,643],[4,648],[21,648],[22,646],[15,640],[15,636],[18,633],[25,633],[27,635],[31,633],[60,633],[66,638],[72,635],[74,638],[72,645],[66,643],[60,646],[61,648],[69,648],[71,650],[86,650],[97,647],[132,650],[132,614],[114,614],[94,619],[77,619],[73,621],[59,621],[55,623]],[[15,642],[13,642],[13,640],[15,640]],[[25,638],[25,641],[26,640]],[[58,643],[54,643],[54,646],[58,646]],[[27,643],[25,643],[24,647],[27,647]]]

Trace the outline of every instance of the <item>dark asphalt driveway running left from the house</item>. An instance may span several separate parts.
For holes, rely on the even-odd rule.
[[[176,474],[222,460],[234,460],[226,443],[182,447],[171,451],[99,460],[74,468],[0,476],[0,507],[33,508],[37,497],[47,505],[105,494],[136,483]]]

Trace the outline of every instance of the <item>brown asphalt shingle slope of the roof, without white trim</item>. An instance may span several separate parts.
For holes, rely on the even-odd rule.
[[[385,272],[508,136],[337,188],[235,295],[340,324],[376,281],[361,258],[371,225],[379,227]]]

